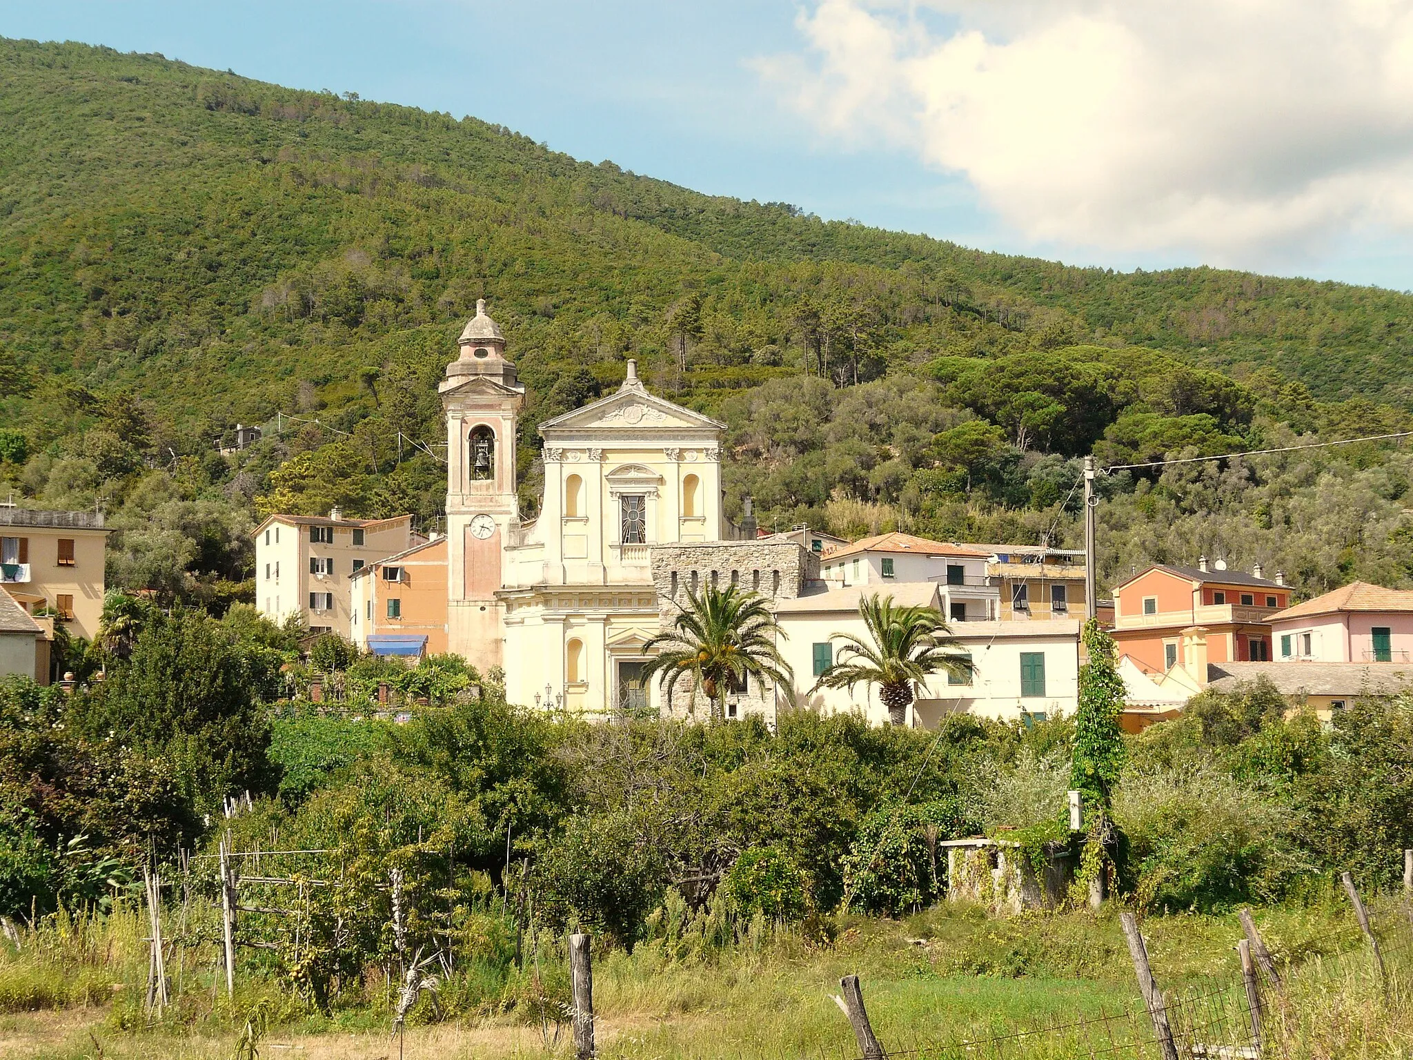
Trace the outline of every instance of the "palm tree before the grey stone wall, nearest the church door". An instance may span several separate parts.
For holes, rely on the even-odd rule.
[[[643,644],[644,653],[657,653],[643,666],[643,678],[657,674],[668,707],[677,683],[690,678],[694,701],[701,691],[715,721],[725,717],[726,691],[746,674],[790,687],[794,673],[776,647],[783,636],[776,616],[756,592],[742,592],[735,585],[725,589],[708,585],[701,595],[688,589],[687,606],[678,606],[671,628]]]

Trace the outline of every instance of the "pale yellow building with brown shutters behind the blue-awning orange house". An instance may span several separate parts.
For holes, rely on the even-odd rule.
[[[300,615],[309,632],[352,639],[349,575],[418,541],[411,516],[270,516],[256,529],[256,608],[273,622]]]

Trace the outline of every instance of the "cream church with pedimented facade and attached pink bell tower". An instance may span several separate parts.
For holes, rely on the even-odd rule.
[[[755,531],[739,540],[722,510],[725,425],[649,393],[633,360],[617,391],[540,424],[544,497],[538,517],[523,522],[516,437],[524,386],[485,302],[459,351],[439,387],[447,644],[482,671],[502,669],[512,702],[657,712],[661,695],[642,677],[642,649],[674,598],[743,577],[767,595],[798,594],[800,546],[777,548],[769,567],[722,555],[728,543],[755,548]],[[777,691],[746,688],[738,698],[743,711],[759,709]]]

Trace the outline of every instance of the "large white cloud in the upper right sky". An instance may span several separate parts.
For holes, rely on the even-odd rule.
[[[1224,261],[1413,228],[1413,0],[820,0],[798,27],[757,62],[791,106],[1031,240]]]

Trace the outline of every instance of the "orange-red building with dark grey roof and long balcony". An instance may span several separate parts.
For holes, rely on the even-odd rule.
[[[1270,616],[1290,603],[1290,588],[1260,577],[1229,571],[1205,557],[1197,567],[1154,564],[1113,587],[1113,639],[1119,654],[1147,671],[1166,673],[1181,661],[1183,630],[1207,630],[1212,663],[1266,661]]]

